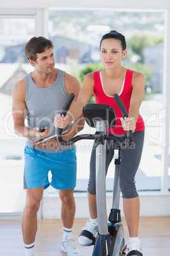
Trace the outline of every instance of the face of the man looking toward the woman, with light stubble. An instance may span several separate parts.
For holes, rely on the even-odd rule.
[[[39,73],[51,74],[55,71],[55,58],[52,48],[46,48],[42,53],[37,53],[34,66]]]

